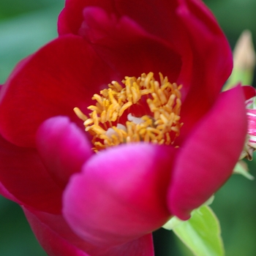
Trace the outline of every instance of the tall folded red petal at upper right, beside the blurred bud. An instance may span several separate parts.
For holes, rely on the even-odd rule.
[[[182,140],[214,104],[232,71],[233,57],[217,20],[201,1],[181,0],[177,13],[187,29],[193,53],[191,85],[181,108]],[[181,83],[182,76],[181,72]]]

